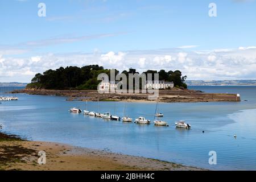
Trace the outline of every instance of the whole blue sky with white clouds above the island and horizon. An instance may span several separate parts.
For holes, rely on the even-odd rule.
[[[38,16],[40,2],[46,17]],[[217,17],[208,15],[211,2]],[[253,0],[1,0],[0,81],[27,82],[50,66],[93,63],[180,69],[193,80],[255,78],[238,69],[256,64],[255,18]]]

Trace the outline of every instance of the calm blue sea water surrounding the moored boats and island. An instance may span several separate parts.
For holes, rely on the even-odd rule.
[[[255,170],[256,86],[191,86],[191,89],[240,93],[242,100],[248,101],[159,104],[170,127],[156,127],[72,114],[68,112],[71,107],[85,109],[85,102],[69,102],[65,97],[17,94],[18,101],[0,104],[0,123],[4,131],[31,140],[108,149],[209,169]],[[88,102],[88,110],[115,111],[122,116],[123,105],[123,102]],[[126,107],[126,113],[134,119],[144,115],[154,120],[155,104],[127,103]],[[176,129],[174,123],[179,120],[191,123],[192,129]],[[209,165],[209,151],[217,152],[217,165]]]

